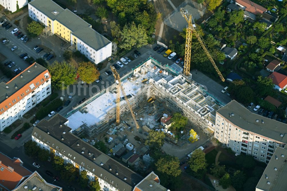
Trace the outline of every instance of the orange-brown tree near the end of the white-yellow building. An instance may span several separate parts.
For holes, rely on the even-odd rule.
[[[82,81],[90,84],[99,78],[100,72],[96,69],[95,65],[91,62],[81,62],[77,73],[80,75]]]

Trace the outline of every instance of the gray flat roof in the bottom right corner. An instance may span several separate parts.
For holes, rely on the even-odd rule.
[[[283,156],[282,156],[283,155]],[[277,159],[276,159],[277,158]],[[287,181],[287,150],[281,147],[277,147],[274,155],[270,159],[267,167],[265,168],[263,175],[261,176],[256,190],[268,190],[279,191],[286,190]],[[275,170],[275,168],[277,170]],[[268,178],[266,178],[268,177]],[[268,182],[270,184],[268,184]]]

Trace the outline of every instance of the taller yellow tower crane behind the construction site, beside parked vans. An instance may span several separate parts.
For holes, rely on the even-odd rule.
[[[184,69],[183,73],[188,76],[189,75],[189,69],[190,69],[190,60],[191,60],[191,37],[192,33],[194,32],[198,42],[202,46],[205,54],[207,55],[208,59],[211,61],[213,67],[215,68],[216,72],[218,73],[220,79],[222,81],[225,81],[224,77],[220,73],[219,69],[217,68],[212,56],[210,55],[208,49],[203,44],[203,41],[201,40],[201,36],[198,32],[196,32],[195,28],[192,25],[192,16],[191,14],[187,14],[187,11],[183,8],[180,8],[181,15],[185,18],[187,21],[187,28],[186,28],[186,41],[185,41],[185,60],[184,60]]]

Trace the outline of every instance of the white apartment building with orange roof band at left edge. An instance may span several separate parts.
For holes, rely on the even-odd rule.
[[[50,78],[46,68],[34,63],[10,81],[0,83],[0,131],[51,94]]]

